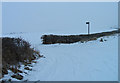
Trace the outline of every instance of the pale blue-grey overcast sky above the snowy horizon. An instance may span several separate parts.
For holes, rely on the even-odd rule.
[[[71,28],[76,33],[86,32],[86,21],[91,22],[92,32],[118,26],[117,2],[4,2],[2,5],[3,33],[62,32]]]

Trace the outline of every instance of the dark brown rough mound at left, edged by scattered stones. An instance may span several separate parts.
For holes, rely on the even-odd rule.
[[[11,77],[21,80],[23,76],[19,73],[23,72],[19,70],[20,65],[27,66],[42,56],[21,38],[2,38],[2,76],[11,70],[14,73]]]

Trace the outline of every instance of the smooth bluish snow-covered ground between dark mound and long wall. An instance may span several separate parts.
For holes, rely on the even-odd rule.
[[[43,45],[42,33],[6,34],[21,37],[32,44],[46,58],[40,58],[33,70],[24,76],[29,81],[117,81],[118,37],[104,37],[107,41],[74,44]]]

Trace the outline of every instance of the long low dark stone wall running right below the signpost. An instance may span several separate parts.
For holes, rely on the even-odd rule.
[[[120,29],[109,32],[101,32],[94,34],[84,34],[84,35],[43,35],[41,39],[43,39],[43,44],[56,44],[56,43],[64,43],[70,44],[75,42],[87,42],[92,40],[97,40],[97,38],[103,36],[110,36],[120,33]],[[102,41],[102,40],[101,40]]]

